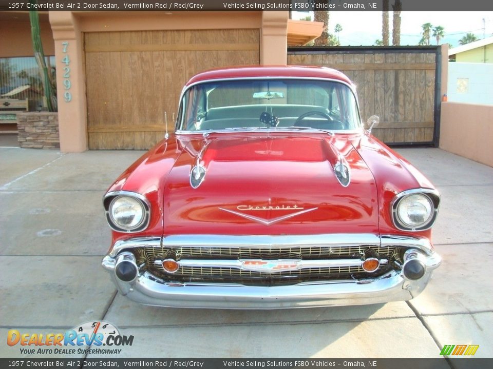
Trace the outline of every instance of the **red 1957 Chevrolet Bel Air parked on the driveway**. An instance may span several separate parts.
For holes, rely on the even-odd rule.
[[[108,189],[103,267],[149,305],[280,309],[408,300],[441,258],[440,195],[364,129],[319,67],[200,73],[176,130]]]

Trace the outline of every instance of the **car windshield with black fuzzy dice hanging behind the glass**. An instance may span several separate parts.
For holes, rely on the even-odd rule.
[[[350,131],[361,127],[356,98],[330,80],[248,79],[203,83],[181,101],[177,129],[287,129]]]

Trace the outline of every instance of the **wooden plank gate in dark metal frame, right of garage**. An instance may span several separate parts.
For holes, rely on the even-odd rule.
[[[356,85],[363,121],[390,145],[438,145],[441,48],[327,47],[288,49],[288,64],[330,67]]]

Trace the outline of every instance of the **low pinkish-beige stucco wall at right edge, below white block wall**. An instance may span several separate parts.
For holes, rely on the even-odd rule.
[[[493,167],[493,106],[442,103],[440,148]]]

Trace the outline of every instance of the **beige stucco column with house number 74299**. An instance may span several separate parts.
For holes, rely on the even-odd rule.
[[[49,12],[56,58],[60,150],[87,150],[87,109],[82,33],[69,11]]]

